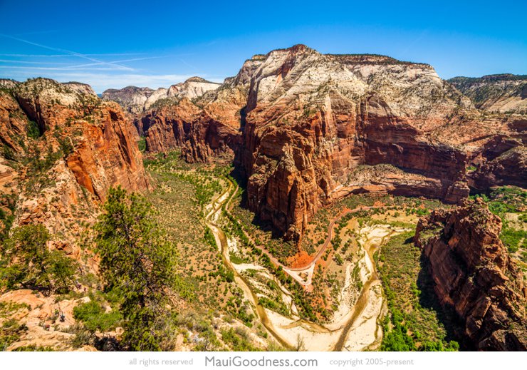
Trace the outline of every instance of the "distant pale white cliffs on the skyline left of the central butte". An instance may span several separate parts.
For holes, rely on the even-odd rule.
[[[125,108],[125,111],[137,114],[149,110],[156,102],[163,99],[174,101],[182,98],[195,99],[219,86],[219,83],[210,82],[201,77],[191,77],[187,81],[177,83],[169,88],[158,88],[157,90],[136,86],[127,86],[121,89],[110,88],[103,92],[103,99],[115,101],[122,108]]]

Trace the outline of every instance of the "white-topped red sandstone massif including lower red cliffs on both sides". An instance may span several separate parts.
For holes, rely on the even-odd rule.
[[[352,193],[457,203],[471,188],[527,187],[518,112],[476,109],[427,64],[296,45],[192,100],[160,101],[136,125],[150,152],[231,160],[249,208],[299,240],[320,207]]]

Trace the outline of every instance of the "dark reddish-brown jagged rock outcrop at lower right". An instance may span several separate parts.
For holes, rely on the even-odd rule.
[[[526,351],[527,289],[500,231],[499,217],[476,200],[432,212],[419,221],[414,240],[439,301],[459,315],[467,343],[480,350]]]

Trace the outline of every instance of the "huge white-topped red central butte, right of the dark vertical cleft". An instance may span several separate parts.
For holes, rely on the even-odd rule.
[[[382,56],[271,51],[250,70],[244,146],[249,207],[291,237],[321,206],[350,192],[466,197],[468,145],[504,124],[476,125],[469,99],[431,66]],[[474,145],[474,144],[471,144]],[[389,181],[360,165],[395,166]]]

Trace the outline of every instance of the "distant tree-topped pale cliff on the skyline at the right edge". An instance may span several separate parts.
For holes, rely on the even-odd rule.
[[[489,112],[527,113],[527,76],[512,74],[480,78],[454,77],[449,83],[474,101],[477,108]]]

